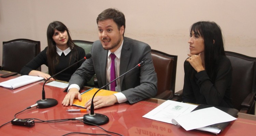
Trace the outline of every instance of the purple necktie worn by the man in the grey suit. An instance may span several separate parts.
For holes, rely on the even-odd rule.
[[[110,67],[110,82],[116,79],[116,70],[115,70],[115,58],[116,55],[114,53],[110,54],[111,57],[111,67]],[[110,84],[110,90],[116,91],[116,81]]]

